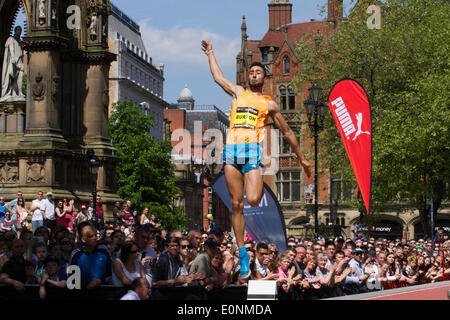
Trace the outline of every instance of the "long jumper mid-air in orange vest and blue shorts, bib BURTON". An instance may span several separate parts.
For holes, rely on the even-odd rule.
[[[202,50],[208,56],[214,81],[233,98],[230,114],[230,130],[223,152],[225,180],[232,203],[232,225],[239,247],[240,276],[250,275],[250,255],[244,247],[244,186],[247,202],[256,207],[263,196],[261,159],[262,143],[268,118],[280,129],[309,177],[309,163],[303,156],[297,137],[280,113],[280,107],[269,96],[262,94],[266,71],[255,62],[249,69],[249,89],[225,79],[217,64],[211,42],[202,41]]]

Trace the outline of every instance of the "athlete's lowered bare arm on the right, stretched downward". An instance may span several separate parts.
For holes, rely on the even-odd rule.
[[[300,149],[300,145],[298,144],[297,137],[295,136],[294,131],[292,131],[291,127],[287,124],[286,120],[284,120],[283,115],[280,112],[280,107],[278,104],[270,100],[269,101],[269,114],[273,119],[275,125],[280,129],[281,133],[286,137],[287,142],[291,146],[292,150],[295,152],[297,157],[300,159],[300,164],[305,170],[305,173],[308,177],[311,176],[310,164],[306,160],[303,155],[302,150]]]

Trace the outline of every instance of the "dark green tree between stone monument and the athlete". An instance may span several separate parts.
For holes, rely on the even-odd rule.
[[[118,194],[131,200],[139,211],[148,207],[167,230],[184,228],[188,218],[182,208],[174,208],[179,193],[175,186],[172,149],[167,141],[156,141],[150,135],[155,125],[153,115],[145,115],[130,102],[114,104],[109,128],[117,156]]]

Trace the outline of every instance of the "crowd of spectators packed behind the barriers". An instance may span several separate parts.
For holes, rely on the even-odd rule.
[[[280,299],[317,300],[433,283],[450,275],[450,241],[442,229],[434,243],[367,238],[361,230],[352,239],[289,237],[284,252],[247,240],[251,274],[242,279],[238,247],[219,225],[207,232],[167,232],[148,208],[138,214],[130,201],[117,202],[114,221],[105,222],[99,196],[97,220],[92,203],[78,210],[74,200],[52,198],[39,192],[27,208],[20,192],[10,202],[0,196],[0,283],[18,292],[26,284],[39,285],[41,299],[49,287],[66,287],[71,265],[80,268],[83,289],[123,286],[129,289],[123,300],[146,299],[153,288],[193,286],[208,292],[246,286],[249,280],[277,281]]]

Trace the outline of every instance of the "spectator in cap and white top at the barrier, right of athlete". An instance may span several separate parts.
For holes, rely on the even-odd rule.
[[[364,273],[362,266],[362,256],[364,250],[355,248],[352,251],[352,259],[348,266],[352,268],[352,272],[345,278],[344,292],[347,294],[357,294],[368,292],[366,287],[366,280],[369,278],[368,274]]]

